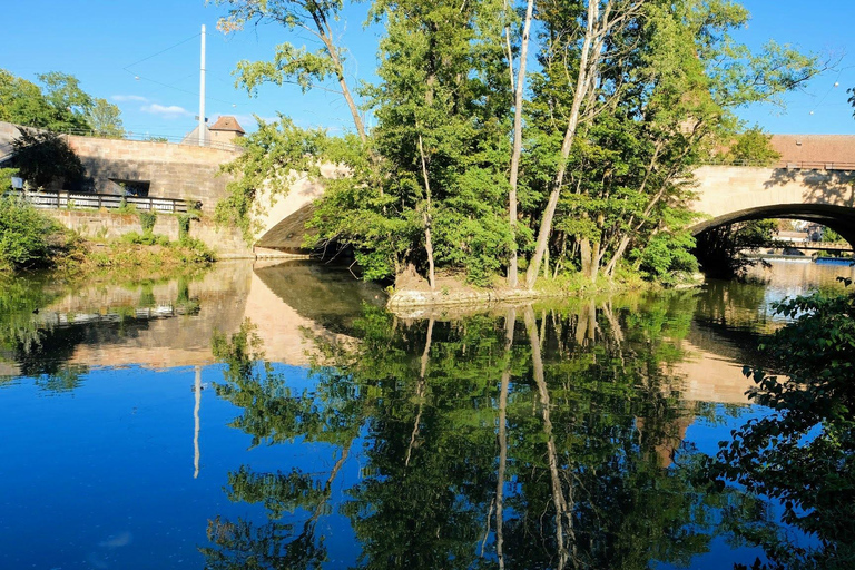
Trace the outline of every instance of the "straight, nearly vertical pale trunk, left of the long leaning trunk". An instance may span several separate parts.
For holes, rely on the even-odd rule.
[[[511,229],[511,255],[508,261],[508,286],[517,287],[517,184],[520,175],[520,155],[522,154],[522,91],[525,87],[525,60],[529,53],[529,36],[531,17],[534,11],[534,0],[528,0],[525,22],[522,27],[522,43],[520,46],[520,68],[517,82],[513,81],[513,53],[511,52],[510,30],[505,28],[508,45],[508,61],[511,68],[511,89],[513,90],[513,150],[511,153],[510,190],[508,191],[508,222]]]

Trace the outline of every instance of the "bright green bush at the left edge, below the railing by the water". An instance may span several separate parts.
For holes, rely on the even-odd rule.
[[[51,265],[61,233],[26,200],[0,196],[0,271]]]

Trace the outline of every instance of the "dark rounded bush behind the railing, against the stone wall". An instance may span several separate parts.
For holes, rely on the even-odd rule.
[[[55,132],[19,128],[20,136],[12,141],[12,164],[31,187],[45,187],[62,180],[70,190],[87,189],[91,180],[80,158],[65,139]]]

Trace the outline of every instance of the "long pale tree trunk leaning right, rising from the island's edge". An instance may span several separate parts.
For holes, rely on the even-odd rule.
[[[607,13],[609,7],[610,3],[607,3]],[[540,230],[538,232],[538,240],[534,246],[534,255],[532,256],[525,273],[525,286],[528,288],[534,287],[534,283],[538,281],[540,264],[543,261],[543,254],[549,245],[549,236],[552,233],[552,218],[556,215],[558,198],[561,195],[564,176],[567,175],[567,163],[573,146],[576,131],[579,127],[579,112],[582,101],[587,98],[589,90],[593,87],[592,76],[593,70],[599,65],[600,52],[592,49],[592,46],[594,43],[594,36],[602,33],[602,26],[601,22],[599,22],[599,1],[590,0],[588,2],[588,24],[586,27],[584,40],[580,53],[579,75],[577,76],[576,89],[573,91],[573,105],[570,108],[570,117],[567,121],[564,140],[561,144],[561,157],[558,163],[558,171],[552,180],[552,190],[549,194],[549,202],[547,203],[547,207],[543,210],[543,217],[540,222]],[[597,46],[599,45],[600,42],[598,41]]]

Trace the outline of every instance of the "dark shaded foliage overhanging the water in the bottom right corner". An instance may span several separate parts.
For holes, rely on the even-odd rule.
[[[717,468],[778,501],[783,522],[813,537],[810,546],[799,546],[774,523],[741,529],[765,548],[768,568],[852,568],[855,293],[815,293],[778,303],[775,311],[790,322],[764,345],[772,370],[745,368],[756,383],[749,397],[772,413],[723,442]]]

